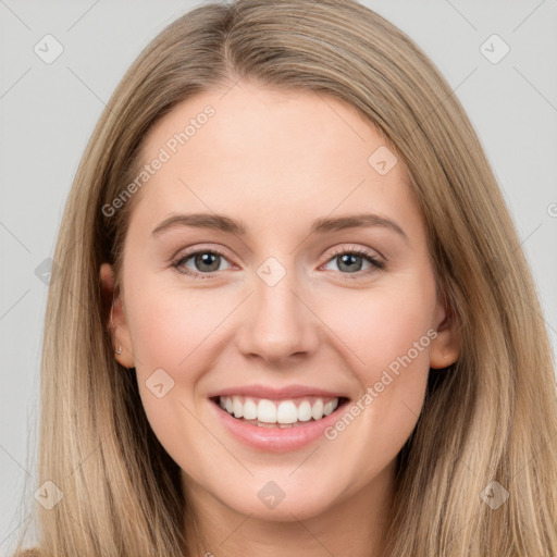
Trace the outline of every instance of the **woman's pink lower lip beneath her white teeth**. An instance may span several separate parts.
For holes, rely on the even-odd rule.
[[[344,404],[338,406],[334,412],[321,420],[310,420],[304,425],[284,429],[252,425],[234,418],[226,410],[223,410],[218,403],[210,400],[210,404],[219,419],[222,420],[224,428],[238,441],[260,450],[283,453],[305,447],[324,435],[324,430],[336,422],[338,410],[346,406],[347,400],[345,399]]]

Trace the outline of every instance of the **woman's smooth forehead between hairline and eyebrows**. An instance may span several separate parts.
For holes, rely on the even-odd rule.
[[[384,137],[354,107],[322,92],[237,84],[198,94],[150,131],[143,163],[156,159],[164,162],[143,187],[143,221],[202,210],[281,228],[278,215],[417,208]]]

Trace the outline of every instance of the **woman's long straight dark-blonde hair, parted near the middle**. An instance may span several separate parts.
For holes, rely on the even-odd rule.
[[[135,175],[158,119],[240,78],[334,95],[377,127],[411,176],[436,280],[460,325],[461,355],[430,371],[397,458],[384,555],[557,555],[555,372],[520,240],[446,81],[403,32],[348,0],[201,5],[153,39],[114,91],[55,247],[38,484],[53,482],[63,498],[37,506],[36,555],[195,555],[178,467],[150,430],[134,370],[114,359],[100,292],[101,262],[120,277],[135,198],[112,216],[102,208]],[[508,498],[495,508],[494,494]]]

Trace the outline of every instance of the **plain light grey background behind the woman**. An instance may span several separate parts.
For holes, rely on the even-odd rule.
[[[147,42],[199,3],[0,0],[2,555],[10,554],[36,505],[38,487],[47,286],[35,271],[53,253],[74,173],[104,102]],[[423,48],[467,109],[515,218],[555,352],[557,1],[362,3]],[[47,34],[63,47],[50,64],[34,51]],[[493,34],[510,48],[498,63],[493,59],[503,52],[502,44],[487,41],[481,50]]]

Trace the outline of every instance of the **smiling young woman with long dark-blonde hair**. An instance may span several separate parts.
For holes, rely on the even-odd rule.
[[[557,554],[519,246],[458,100],[377,14],[181,17],[65,209],[36,554]]]

